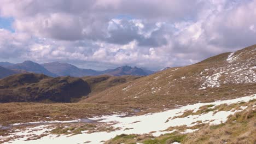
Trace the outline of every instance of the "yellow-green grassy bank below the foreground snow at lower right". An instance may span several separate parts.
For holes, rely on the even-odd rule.
[[[256,142],[256,100],[250,100],[248,103],[238,103],[235,105],[222,105],[218,107],[218,111],[229,111],[233,107],[245,106],[246,109],[230,115],[225,123],[217,125],[210,125],[202,123],[201,121],[194,124],[192,127],[182,125],[179,127],[170,127],[167,133],[158,137],[151,134],[136,135],[121,134],[115,136],[113,139],[106,141],[106,144],[118,143],[162,143],[171,144],[173,142],[179,143],[255,143]],[[204,108],[205,109],[205,108]],[[207,109],[206,109],[207,110]],[[211,106],[208,106],[208,110]],[[207,111],[204,111],[207,113]],[[189,117],[192,113],[182,115],[181,117]],[[183,133],[186,129],[196,130],[193,133]]]

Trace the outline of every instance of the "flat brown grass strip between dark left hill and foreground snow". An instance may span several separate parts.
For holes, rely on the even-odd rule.
[[[0,123],[7,125],[38,121],[66,121],[121,111],[132,112],[133,110],[124,106],[105,104],[4,103],[0,104]]]

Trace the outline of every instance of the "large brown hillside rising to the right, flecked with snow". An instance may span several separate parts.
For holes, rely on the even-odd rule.
[[[84,101],[132,105],[153,111],[252,94],[256,92],[255,47],[223,53],[186,67],[160,71],[109,88]]]

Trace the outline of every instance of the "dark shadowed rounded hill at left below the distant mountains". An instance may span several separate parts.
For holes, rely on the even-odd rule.
[[[71,102],[91,92],[87,82],[74,77],[51,78],[42,74],[18,74],[0,80],[0,102]]]

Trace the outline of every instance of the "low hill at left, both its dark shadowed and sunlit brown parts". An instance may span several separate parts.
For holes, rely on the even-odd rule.
[[[43,74],[16,74],[0,80],[0,102],[44,101],[73,102],[88,94],[138,79],[139,76],[86,76],[83,79]]]

